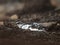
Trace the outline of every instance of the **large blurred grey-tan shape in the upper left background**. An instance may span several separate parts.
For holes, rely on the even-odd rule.
[[[25,0],[0,0],[0,20],[6,18],[6,13],[22,9],[24,1]]]

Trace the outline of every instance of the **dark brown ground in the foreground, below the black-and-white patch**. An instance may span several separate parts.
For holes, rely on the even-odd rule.
[[[60,45],[60,35],[0,30],[0,45]]]

